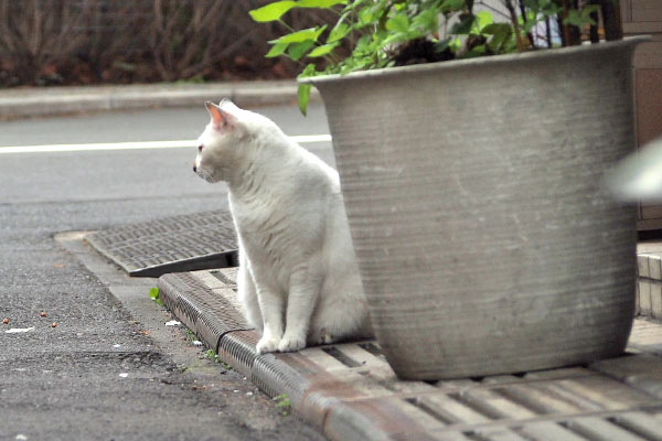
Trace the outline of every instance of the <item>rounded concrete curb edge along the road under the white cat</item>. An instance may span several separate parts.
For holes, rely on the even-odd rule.
[[[291,408],[332,440],[389,440],[407,428],[428,439],[424,427],[388,404],[354,408],[343,400],[366,398],[365,392],[339,380],[322,365],[300,353],[264,354],[255,351],[259,335],[236,314],[232,291],[233,269],[170,273],[159,278],[160,295],[167,308],[218,357],[270,397],[286,395]],[[227,273],[231,277],[227,278]],[[226,278],[231,283],[221,279]],[[210,295],[212,294],[212,295]],[[213,299],[212,299],[213,298]],[[216,303],[215,306],[212,303]],[[223,311],[224,319],[215,316]],[[225,323],[223,323],[225,322]],[[342,366],[341,369],[346,369]],[[431,439],[431,438],[429,438]]]

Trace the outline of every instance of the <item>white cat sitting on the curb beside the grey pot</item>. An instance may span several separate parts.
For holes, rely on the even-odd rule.
[[[229,100],[206,108],[193,171],[227,182],[257,352],[371,336],[338,173],[261,115]]]

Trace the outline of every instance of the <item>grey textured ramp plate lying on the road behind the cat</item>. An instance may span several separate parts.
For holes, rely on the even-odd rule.
[[[226,211],[110,228],[88,235],[87,241],[135,277],[237,266],[237,239]]]

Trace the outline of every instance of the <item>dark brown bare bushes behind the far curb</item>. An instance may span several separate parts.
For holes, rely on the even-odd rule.
[[[0,0],[0,87],[291,77],[266,0]],[[319,18],[289,17],[298,29]]]

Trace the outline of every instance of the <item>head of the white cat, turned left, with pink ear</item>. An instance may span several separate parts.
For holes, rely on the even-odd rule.
[[[218,105],[207,101],[205,106],[212,119],[197,138],[193,171],[207,182],[227,181],[229,173],[241,166],[253,112],[228,99]]]

